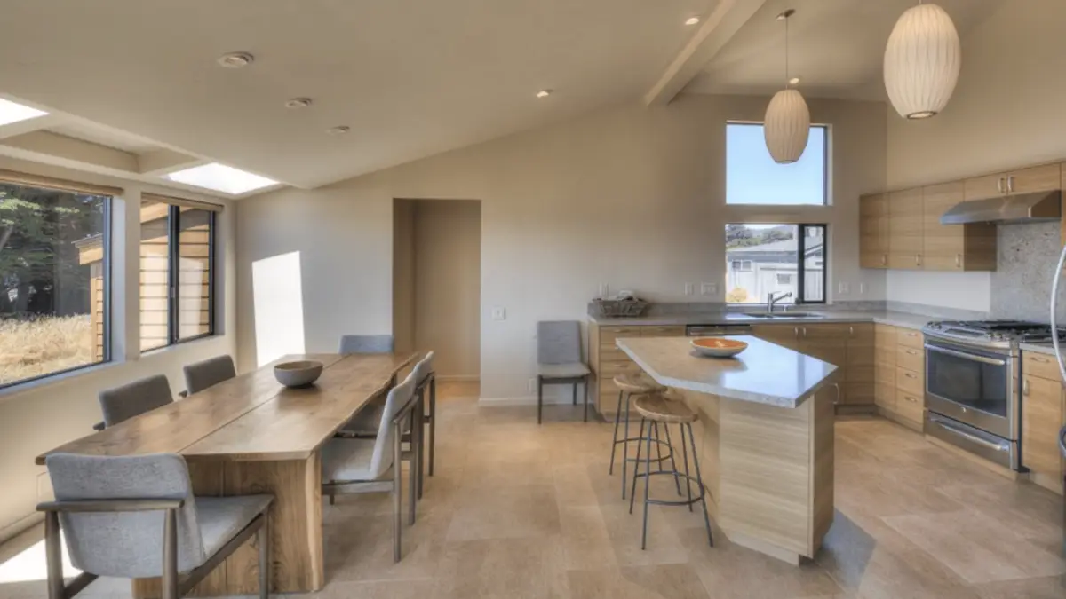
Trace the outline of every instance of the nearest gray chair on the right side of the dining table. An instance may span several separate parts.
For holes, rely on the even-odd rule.
[[[403,493],[403,451],[401,439],[405,427],[411,434],[411,468],[408,472],[408,523],[415,523],[417,504],[417,460],[421,453],[418,421],[421,412],[415,395],[415,373],[389,390],[385,400],[385,411],[378,423],[377,436],[373,439],[333,438],[322,448],[322,493],[335,495],[383,492],[392,493],[392,560],[400,561],[400,530],[403,524],[401,497]]]

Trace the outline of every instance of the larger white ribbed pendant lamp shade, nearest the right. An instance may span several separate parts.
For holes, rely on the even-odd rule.
[[[919,4],[900,16],[885,48],[885,88],[906,118],[935,116],[948,104],[963,50],[951,17],[936,4]]]

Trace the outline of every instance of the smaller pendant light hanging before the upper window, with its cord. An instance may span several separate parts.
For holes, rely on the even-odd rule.
[[[778,164],[800,160],[810,136],[810,111],[800,91],[791,87],[789,77],[789,17],[794,14],[795,11],[789,9],[777,15],[777,20],[785,21],[785,88],[770,99],[762,126],[766,149]]]

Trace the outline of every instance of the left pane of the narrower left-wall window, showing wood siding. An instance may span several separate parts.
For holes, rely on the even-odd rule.
[[[141,351],[169,343],[171,207],[141,203]]]

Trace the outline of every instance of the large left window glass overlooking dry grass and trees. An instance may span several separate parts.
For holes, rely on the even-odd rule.
[[[109,359],[110,201],[0,183],[0,386]]]

